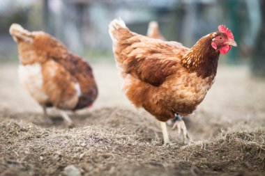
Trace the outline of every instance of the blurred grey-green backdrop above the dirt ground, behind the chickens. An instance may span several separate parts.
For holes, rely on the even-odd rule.
[[[17,61],[10,24],[29,31],[45,31],[89,62],[113,62],[109,22],[121,17],[128,27],[146,35],[156,20],[167,40],[192,47],[219,24],[232,30],[239,47],[222,56],[220,63],[250,65],[265,76],[265,5],[263,0],[1,0],[0,61]]]

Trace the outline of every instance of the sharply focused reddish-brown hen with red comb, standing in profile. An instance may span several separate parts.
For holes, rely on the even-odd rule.
[[[126,80],[123,91],[132,104],[160,120],[164,143],[169,143],[165,122],[175,117],[178,134],[188,138],[179,115],[197,108],[214,81],[220,54],[236,47],[232,32],[225,26],[218,29],[189,49],[133,33],[121,19],[109,24],[116,63]]]

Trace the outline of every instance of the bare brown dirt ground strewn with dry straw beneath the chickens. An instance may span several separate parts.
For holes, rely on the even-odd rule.
[[[265,81],[248,67],[218,68],[215,83],[185,118],[191,140],[162,145],[158,121],[121,93],[112,63],[93,64],[100,95],[90,109],[53,109],[54,124],[20,86],[17,64],[0,69],[0,175],[265,175]]]

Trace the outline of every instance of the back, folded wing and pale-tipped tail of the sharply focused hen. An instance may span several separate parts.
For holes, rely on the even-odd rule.
[[[123,72],[142,81],[154,81],[172,74],[174,68],[181,65],[181,58],[189,50],[179,42],[165,42],[133,33],[121,19],[114,19],[109,24],[109,35],[117,65]],[[149,77],[151,74],[146,73],[153,73],[155,70],[159,75],[153,74],[153,77]]]

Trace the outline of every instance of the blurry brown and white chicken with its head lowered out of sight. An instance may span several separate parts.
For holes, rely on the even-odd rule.
[[[43,107],[45,118],[46,108],[54,106],[73,125],[65,111],[91,106],[98,96],[89,64],[43,31],[29,32],[12,24],[10,34],[17,42],[18,73],[24,88]]]

